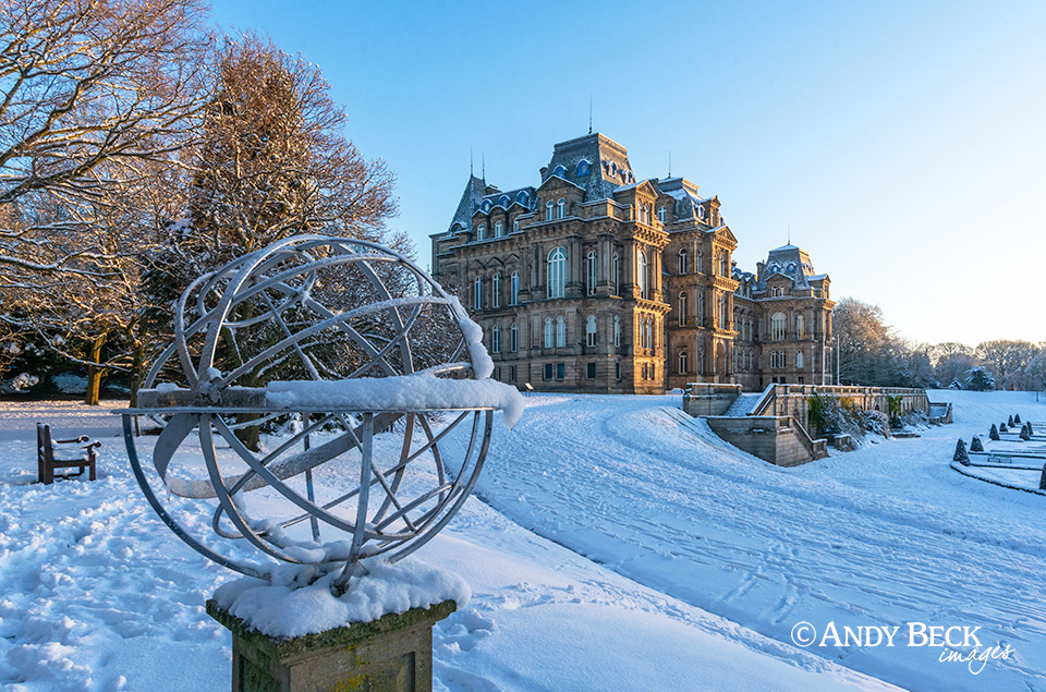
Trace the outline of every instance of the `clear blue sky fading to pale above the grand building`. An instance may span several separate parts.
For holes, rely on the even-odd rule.
[[[915,341],[1046,340],[1046,2],[215,0],[318,64],[427,265],[469,175],[588,129],[719,195],[750,271],[807,250]]]

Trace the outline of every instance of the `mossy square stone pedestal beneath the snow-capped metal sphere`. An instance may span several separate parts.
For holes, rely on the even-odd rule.
[[[233,692],[431,690],[433,626],[455,609],[453,600],[445,600],[373,622],[277,639],[207,602],[207,615],[232,632]]]

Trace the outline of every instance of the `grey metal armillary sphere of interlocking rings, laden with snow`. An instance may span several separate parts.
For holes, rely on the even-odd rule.
[[[296,236],[231,262],[185,290],[173,332],[123,412],[131,465],[179,537],[251,576],[279,562],[244,544],[312,566],[307,581],[340,570],[341,590],[361,559],[413,553],[475,485],[495,410],[509,426],[522,412],[458,299],[365,241]],[[156,475],[135,414],[162,425]],[[214,532],[194,535],[199,509],[171,496],[208,503]]]

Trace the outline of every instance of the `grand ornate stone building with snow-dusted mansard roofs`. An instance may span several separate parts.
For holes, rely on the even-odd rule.
[[[615,393],[822,383],[828,277],[791,245],[758,276],[739,271],[719,199],[684,178],[637,180],[600,133],[555,145],[537,187],[471,175],[431,241],[433,275],[483,327],[501,381]]]

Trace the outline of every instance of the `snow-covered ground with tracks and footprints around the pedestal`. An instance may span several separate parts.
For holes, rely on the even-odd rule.
[[[489,506],[470,500],[417,554],[473,592],[435,630],[436,687],[1046,689],[1046,498],[949,468],[956,437],[1046,420],[1046,403],[946,398],[956,425],[782,470],[679,397],[530,397],[495,427]],[[32,484],[37,420],[100,437],[99,479]],[[0,687],[228,688],[229,635],[203,606],[238,575],[155,518],[118,425],[69,402],[0,408]],[[802,648],[801,621],[980,626],[1013,653],[974,676],[904,631],[889,648]]]

